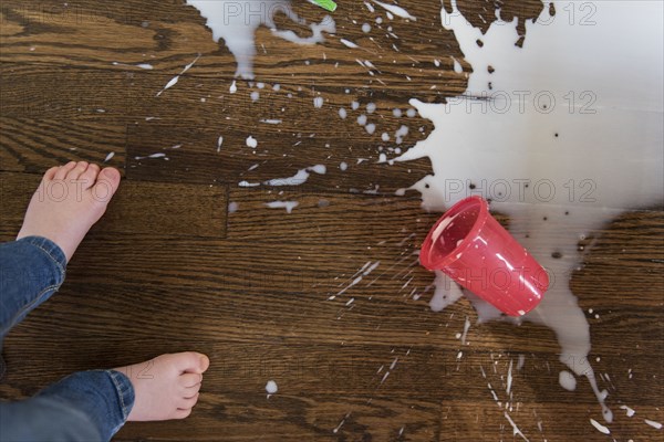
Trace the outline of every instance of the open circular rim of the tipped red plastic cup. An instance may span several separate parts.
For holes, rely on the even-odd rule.
[[[436,228],[444,220],[446,220],[450,217],[454,217],[454,215],[460,213],[461,211],[466,210],[466,208],[470,204],[479,204],[479,213],[477,214],[475,224],[468,231],[466,236],[461,240],[461,242],[458,245],[456,245],[449,253],[442,256],[436,262],[433,262],[430,260],[430,251],[432,251],[432,246],[434,243],[433,234],[434,234]],[[460,259],[460,256],[457,257],[457,255],[463,254],[470,246],[473,241],[478,236],[478,233],[481,230],[481,228],[487,222],[488,217],[489,217],[489,204],[487,203],[487,201],[484,198],[481,198],[479,196],[464,198],[463,200],[458,201],[456,204],[450,207],[447,211],[445,211],[443,217],[440,217],[438,219],[438,221],[436,221],[436,223],[429,229],[429,232],[426,235],[426,239],[424,240],[424,242],[422,244],[422,248],[419,250],[419,262],[422,263],[422,265],[424,265],[426,269],[432,270],[432,271],[443,270],[444,267],[448,266],[453,262]]]

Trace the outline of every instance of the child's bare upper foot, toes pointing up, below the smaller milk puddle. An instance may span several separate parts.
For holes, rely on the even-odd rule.
[[[106,211],[117,190],[120,172],[85,161],[53,167],[30,200],[17,240],[44,236],[62,249],[69,262],[83,238]]]

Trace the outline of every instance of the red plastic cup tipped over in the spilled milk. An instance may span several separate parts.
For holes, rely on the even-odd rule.
[[[424,240],[419,262],[510,316],[533,309],[549,287],[544,269],[491,217],[480,197],[445,212]]]

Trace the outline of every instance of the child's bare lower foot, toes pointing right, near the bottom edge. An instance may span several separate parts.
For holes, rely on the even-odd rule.
[[[157,356],[146,362],[116,368],[134,386],[128,421],[184,419],[198,401],[207,356],[195,351]]]

